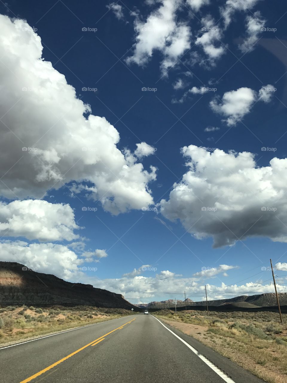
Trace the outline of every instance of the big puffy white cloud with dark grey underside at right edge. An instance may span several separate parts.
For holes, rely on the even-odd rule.
[[[287,242],[286,158],[258,167],[249,152],[190,145],[182,153],[189,169],[160,202],[165,218],[179,219],[198,239],[213,237],[214,247],[249,236]]]

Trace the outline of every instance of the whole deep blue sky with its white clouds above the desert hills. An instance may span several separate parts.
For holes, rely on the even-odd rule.
[[[271,257],[286,291],[283,3],[0,11],[1,260],[138,303],[273,292]]]

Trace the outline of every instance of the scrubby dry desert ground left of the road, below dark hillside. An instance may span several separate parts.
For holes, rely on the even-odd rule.
[[[7,306],[0,308],[0,344],[37,337],[134,314],[126,309],[93,306]]]

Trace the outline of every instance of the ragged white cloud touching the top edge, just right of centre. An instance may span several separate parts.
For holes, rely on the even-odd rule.
[[[145,23],[135,19],[136,43],[132,56],[127,58],[128,64],[145,65],[154,51],[163,54],[161,70],[164,75],[176,64],[184,51],[190,48],[190,28],[186,23],[177,21],[176,12],[181,5],[180,0],[161,0]]]

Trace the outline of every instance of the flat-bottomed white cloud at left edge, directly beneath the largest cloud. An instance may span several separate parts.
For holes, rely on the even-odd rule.
[[[41,200],[0,201],[0,235],[39,241],[72,241],[79,229],[70,205]]]

